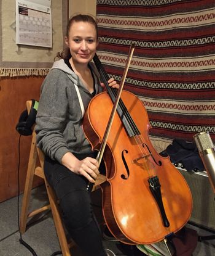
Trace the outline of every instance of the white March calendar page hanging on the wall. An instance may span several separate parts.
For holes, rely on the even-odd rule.
[[[16,0],[16,44],[52,47],[51,0]]]

